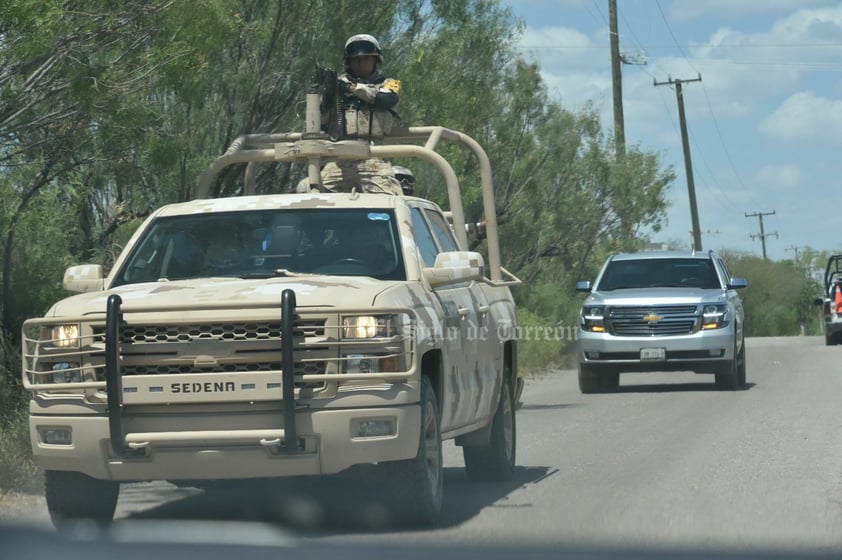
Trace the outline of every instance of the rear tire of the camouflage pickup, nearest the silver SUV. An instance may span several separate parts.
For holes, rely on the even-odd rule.
[[[508,378],[503,381],[497,411],[491,420],[491,435],[488,445],[466,445],[462,447],[465,471],[468,478],[482,481],[510,480],[515,472],[517,449],[517,424],[512,399],[512,385]]]

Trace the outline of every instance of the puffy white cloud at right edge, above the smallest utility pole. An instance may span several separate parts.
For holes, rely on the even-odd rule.
[[[760,131],[781,142],[842,143],[842,100],[799,92],[760,122]]]

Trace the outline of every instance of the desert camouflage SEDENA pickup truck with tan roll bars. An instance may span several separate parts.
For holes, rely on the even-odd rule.
[[[110,520],[121,481],[364,464],[396,515],[434,523],[451,438],[470,478],[512,475],[519,281],[500,264],[484,151],[441,127],[378,145],[317,131],[238,138],[195,200],[154,212],[107,274],[69,268],[76,295],[24,323],[32,449],[54,523]],[[478,159],[487,261],[467,250],[443,140]],[[432,164],[448,212],[386,194],[249,195],[261,162],[317,173],[371,156]],[[243,163],[245,195],[210,198],[217,174]]]

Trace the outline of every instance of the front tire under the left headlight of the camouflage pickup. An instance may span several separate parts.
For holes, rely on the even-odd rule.
[[[100,523],[110,523],[114,519],[119,482],[70,471],[46,471],[44,474],[47,510],[56,527],[75,519],[92,519]]]

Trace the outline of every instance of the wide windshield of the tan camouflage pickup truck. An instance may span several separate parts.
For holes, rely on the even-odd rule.
[[[404,280],[394,215],[382,210],[251,210],[156,220],[113,286],[295,274]]]

